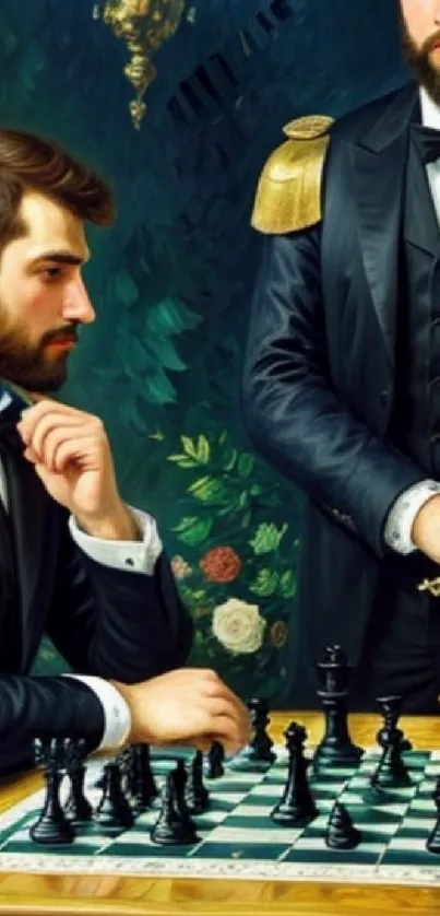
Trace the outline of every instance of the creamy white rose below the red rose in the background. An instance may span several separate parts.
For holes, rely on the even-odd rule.
[[[215,609],[212,630],[231,655],[250,655],[261,648],[265,625],[258,604],[229,598]]]

